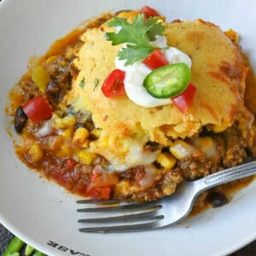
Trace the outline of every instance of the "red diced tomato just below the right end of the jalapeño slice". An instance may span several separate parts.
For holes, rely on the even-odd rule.
[[[172,97],[171,101],[181,112],[186,113],[195,98],[196,90],[195,85],[189,83],[186,90],[181,94]]]

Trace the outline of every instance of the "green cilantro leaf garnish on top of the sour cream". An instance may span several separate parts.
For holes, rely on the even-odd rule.
[[[121,27],[119,32],[107,32],[107,38],[112,41],[112,45],[127,43],[127,47],[118,53],[119,60],[125,60],[125,66],[141,61],[151,54],[154,47],[149,41],[155,41],[155,36],[161,36],[165,31],[165,26],[158,18],[150,17],[144,20],[144,15],[134,17],[132,23],[124,18],[114,17],[108,21],[108,26]]]

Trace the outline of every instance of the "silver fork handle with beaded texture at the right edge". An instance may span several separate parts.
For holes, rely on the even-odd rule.
[[[256,175],[256,160],[246,164],[231,167],[221,172],[213,173],[207,177],[203,177],[196,181],[201,185],[201,189],[211,189],[224,183],[230,183],[242,177],[249,177]]]

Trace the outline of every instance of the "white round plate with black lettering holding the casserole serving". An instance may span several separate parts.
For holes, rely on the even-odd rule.
[[[84,19],[108,10],[139,9],[144,4],[158,9],[168,20],[201,17],[224,30],[234,28],[256,67],[253,0],[5,0],[0,4],[0,221],[49,255],[221,255],[256,238],[256,183],[234,195],[229,205],[169,229],[82,234],[77,224],[77,197],[45,182],[15,157],[12,139],[4,129],[8,125],[4,107],[10,87],[26,72],[28,58],[44,54],[55,39]]]

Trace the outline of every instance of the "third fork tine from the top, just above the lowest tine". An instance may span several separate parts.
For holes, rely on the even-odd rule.
[[[152,212],[140,212],[135,214],[119,215],[107,218],[83,218],[79,219],[79,223],[109,223],[109,222],[120,222],[120,221],[142,221],[147,218],[147,220],[156,220],[164,218],[162,215],[157,215],[154,210]]]

